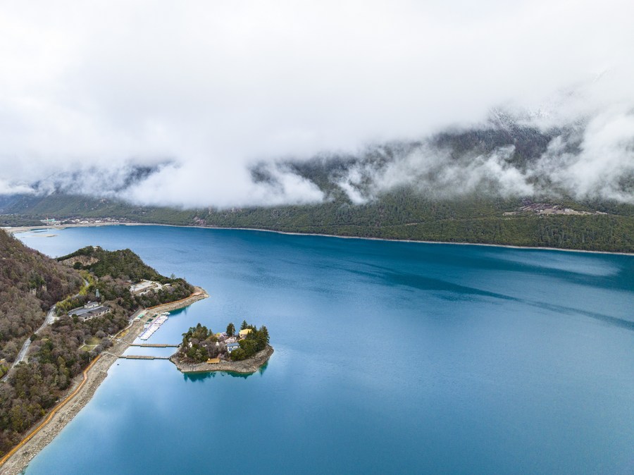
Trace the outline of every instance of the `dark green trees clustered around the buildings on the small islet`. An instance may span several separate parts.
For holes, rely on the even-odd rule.
[[[178,359],[187,363],[202,363],[209,358],[232,359],[240,361],[252,357],[256,352],[264,350],[268,345],[269,337],[266,326],[259,329],[249,325],[247,321],[242,321],[240,330],[251,330],[246,338],[239,341],[240,348],[236,348],[229,354],[227,350],[227,338],[235,335],[235,325],[229,323],[227,331],[223,333],[213,333],[211,328],[207,328],[201,323],[189,328],[182,334],[182,344],[178,349]]]

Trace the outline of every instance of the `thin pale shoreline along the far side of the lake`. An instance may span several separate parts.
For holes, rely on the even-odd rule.
[[[450,242],[450,241],[425,241],[414,239],[387,239],[385,237],[362,237],[362,236],[340,236],[335,234],[323,234],[323,233],[297,233],[291,231],[279,231],[273,229],[259,229],[259,228],[225,228],[220,226],[189,226],[180,224],[162,224],[162,223],[134,223],[128,221],[116,221],[110,223],[81,223],[81,224],[63,224],[59,226],[7,226],[1,229],[6,230],[7,233],[27,233],[31,230],[50,229],[50,230],[63,230],[66,228],[98,228],[101,226],[165,226],[168,228],[197,228],[197,229],[220,229],[220,230],[244,230],[244,231],[262,231],[263,233],[277,233],[292,236],[321,236],[321,237],[338,237],[340,239],[360,239],[368,241],[386,241],[386,242],[414,242],[420,244],[436,244],[436,245],[459,245],[459,246],[486,246],[486,247],[506,247],[509,249],[529,249],[529,250],[544,250],[544,251],[561,251],[561,252],[585,252],[588,254],[614,254],[616,256],[634,256],[634,252],[614,252],[614,251],[592,251],[588,249],[568,249],[563,247],[540,247],[540,246],[517,246],[510,244],[489,244],[485,242]],[[46,237],[53,237],[54,235],[46,235]]]

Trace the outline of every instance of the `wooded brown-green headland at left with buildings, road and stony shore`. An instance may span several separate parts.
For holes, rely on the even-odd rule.
[[[130,249],[46,257],[0,230],[0,474],[20,473],[156,315],[209,297]]]

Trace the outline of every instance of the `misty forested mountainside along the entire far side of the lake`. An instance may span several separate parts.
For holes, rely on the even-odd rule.
[[[71,195],[58,187],[52,194],[5,198],[0,202],[0,224],[31,226],[44,218],[115,218],[182,226],[634,252],[634,176],[624,174],[618,183],[606,184],[607,195],[605,190],[576,195],[566,188],[565,177],[559,176],[556,182],[552,170],[542,173],[543,168],[552,167],[549,146],[557,143],[560,154],[573,157],[580,153],[579,137],[575,128],[543,131],[498,114],[484,128],[442,132],[420,142],[392,142],[355,155],[280,162],[278,167],[321,190],[324,199],[316,204],[175,209]],[[521,177],[520,185],[497,176],[509,171],[512,177]],[[385,185],[382,177],[386,173],[396,177],[396,185]],[[251,175],[254,183],[276,186],[270,164],[254,166]],[[523,192],[522,186],[532,191]],[[621,198],[606,197],[610,193]]]

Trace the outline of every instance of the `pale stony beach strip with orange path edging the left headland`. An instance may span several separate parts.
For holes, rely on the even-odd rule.
[[[209,294],[202,288],[194,288],[194,293],[185,299],[176,302],[169,302],[146,309],[152,314],[159,314],[162,311],[172,311],[203,300],[209,297]],[[101,352],[95,359],[93,364],[88,366],[84,371],[82,381],[75,378],[73,385],[68,390],[66,396],[58,403],[51,412],[46,416],[44,421],[33,428],[23,441],[9,452],[6,461],[0,465],[0,475],[20,474],[28,466],[33,458],[41,452],[46,445],[49,445],[54,438],[63,430],[66,425],[87,405],[94,393],[97,392],[99,385],[104,382],[108,376],[108,369],[118,360],[118,357],[128,350],[131,343],[144,331],[143,322],[134,319],[130,325],[123,328],[122,331],[113,337],[113,345]],[[13,453],[12,453],[13,452]]]

